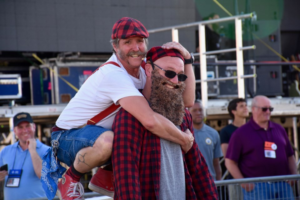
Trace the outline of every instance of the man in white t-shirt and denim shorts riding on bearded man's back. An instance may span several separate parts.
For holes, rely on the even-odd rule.
[[[52,128],[53,149],[43,156],[42,168],[48,199],[53,199],[55,193],[63,200],[84,199],[80,178],[93,168],[107,164],[111,158],[113,132],[110,129],[119,106],[159,137],[178,143],[184,151],[192,147],[192,133],[178,130],[167,118],[153,112],[138,91],[146,82],[141,65],[147,53],[148,36],[143,24],[130,17],[123,17],[113,25],[112,57],[83,83]],[[183,72],[190,78],[183,98],[185,106],[191,107],[195,93],[193,57],[178,42],[168,42],[163,48],[178,49],[185,59]],[[57,160],[70,167],[59,183],[64,169]],[[113,197],[113,172],[99,168],[88,187]]]

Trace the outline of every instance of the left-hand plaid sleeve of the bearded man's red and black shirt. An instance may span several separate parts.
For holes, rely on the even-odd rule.
[[[142,151],[142,124],[123,108],[115,116],[112,126],[113,176],[115,199],[141,199],[139,165]]]

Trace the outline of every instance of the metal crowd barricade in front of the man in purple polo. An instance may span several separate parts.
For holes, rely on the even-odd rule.
[[[244,200],[300,200],[300,175],[284,175],[256,178],[242,178],[215,181],[220,200],[230,200],[229,187],[233,187],[238,197]],[[254,189],[244,195],[244,188]],[[241,193],[242,191],[242,193]]]

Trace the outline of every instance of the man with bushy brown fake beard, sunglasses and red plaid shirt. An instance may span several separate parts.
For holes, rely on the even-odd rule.
[[[147,53],[143,95],[153,111],[181,131],[193,133],[185,109],[184,59],[175,49],[153,47]],[[183,152],[180,145],[148,131],[120,109],[112,127],[114,199],[217,199],[217,189],[198,146]]]

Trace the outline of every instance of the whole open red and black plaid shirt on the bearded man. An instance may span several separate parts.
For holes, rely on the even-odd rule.
[[[194,135],[192,117],[186,110],[181,130]],[[113,123],[114,199],[159,199],[160,138],[149,132],[123,108]],[[216,186],[202,153],[194,141],[183,154],[186,199],[218,199]]]

